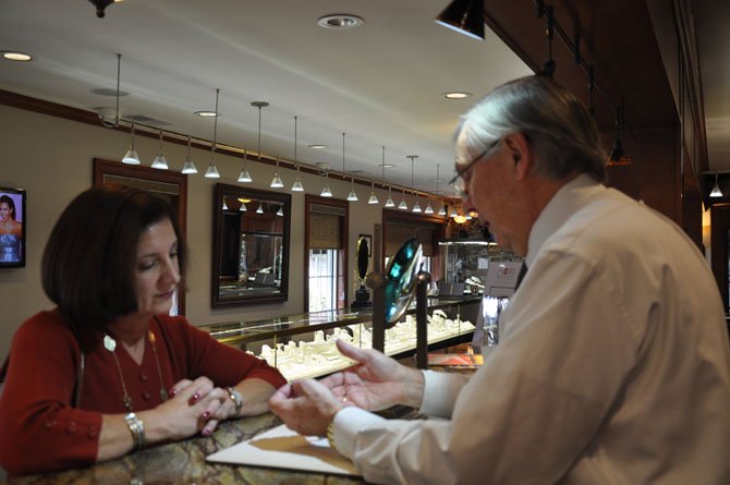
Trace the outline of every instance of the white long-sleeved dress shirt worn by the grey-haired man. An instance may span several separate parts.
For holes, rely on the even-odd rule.
[[[338,450],[376,483],[729,484],[725,312],[683,231],[580,175],[526,263],[484,365],[424,373],[435,417],[343,409]]]

